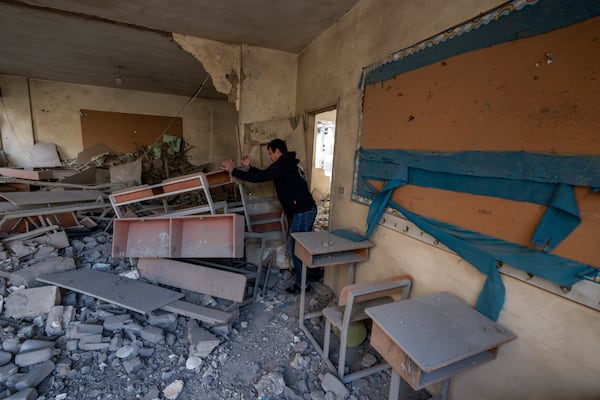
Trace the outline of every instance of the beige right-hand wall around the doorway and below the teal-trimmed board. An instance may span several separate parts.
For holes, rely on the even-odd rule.
[[[361,69],[502,3],[364,0],[303,51],[298,61],[297,111],[335,104],[339,98],[332,229],[365,231],[367,208],[350,201],[360,130]],[[358,281],[410,273],[415,280],[413,296],[446,290],[475,304],[484,276],[464,260],[381,226],[372,240],[376,247],[369,261],[358,267]],[[513,278],[503,280],[506,303],[498,322],[518,338],[501,347],[496,360],[454,379],[451,398],[599,398],[598,312]],[[335,289],[345,282],[342,271],[326,272],[326,283]]]

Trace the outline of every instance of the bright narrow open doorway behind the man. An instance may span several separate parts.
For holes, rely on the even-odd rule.
[[[310,191],[317,203],[316,231],[329,230],[336,113],[333,109],[315,114]]]

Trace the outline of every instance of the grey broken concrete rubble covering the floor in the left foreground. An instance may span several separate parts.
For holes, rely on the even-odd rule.
[[[44,259],[71,259],[78,268],[137,277],[129,259],[111,257],[109,233],[70,243],[49,252],[45,245],[24,242],[18,247],[29,246],[28,254],[20,256],[5,251],[19,261],[18,270],[31,268],[28,262],[41,251]],[[289,271],[272,273],[280,284],[241,307],[226,326],[161,310],[142,315],[52,285],[17,287],[2,278],[0,398],[387,398],[387,373],[346,386],[329,373],[298,328],[297,296],[284,289],[292,282]],[[318,283],[311,296],[310,306],[333,300],[331,290]],[[191,292],[186,300],[219,301]],[[322,333],[320,319],[311,323]],[[372,357],[368,349],[358,354]]]

